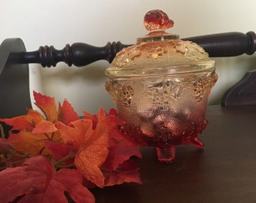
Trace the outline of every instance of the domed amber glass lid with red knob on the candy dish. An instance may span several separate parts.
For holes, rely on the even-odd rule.
[[[105,71],[108,77],[145,77],[215,68],[215,61],[203,47],[166,32],[174,22],[163,11],[148,11],[144,25],[149,34],[117,53]]]

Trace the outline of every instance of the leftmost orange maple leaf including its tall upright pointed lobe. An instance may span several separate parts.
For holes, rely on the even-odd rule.
[[[30,156],[47,155],[50,153],[44,145],[45,141],[61,141],[54,122],[58,119],[54,98],[34,92],[35,104],[44,112],[44,117],[35,110],[28,109],[28,114],[11,119],[1,119],[9,126],[8,140],[15,149]],[[20,132],[13,132],[18,130]]]

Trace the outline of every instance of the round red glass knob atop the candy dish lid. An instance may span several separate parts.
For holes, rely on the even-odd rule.
[[[145,14],[144,26],[149,31],[165,30],[171,28],[173,25],[173,20],[170,20],[163,11],[153,10]]]

